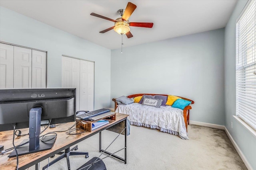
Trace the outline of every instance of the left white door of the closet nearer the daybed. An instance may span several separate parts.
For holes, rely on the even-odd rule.
[[[80,110],[80,60],[62,56],[62,87],[76,88],[76,111]]]

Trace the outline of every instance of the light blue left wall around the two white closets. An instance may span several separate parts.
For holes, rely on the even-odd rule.
[[[0,41],[48,52],[47,88],[61,87],[62,55],[95,61],[94,109],[110,106],[109,49],[3,7],[0,7]]]

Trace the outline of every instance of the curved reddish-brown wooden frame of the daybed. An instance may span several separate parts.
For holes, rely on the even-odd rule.
[[[134,98],[134,97],[137,97],[137,96],[143,96],[144,94],[132,94],[130,96],[127,96],[128,98]],[[146,95],[152,95],[152,96],[155,96],[155,95],[162,95],[162,96],[168,96],[167,94],[146,94]],[[180,97],[180,96],[177,96],[177,97]],[[188,100],[188,101],[191,101],[191,104],[194,104],[194,101],[193,100],[190,100],[190,99],[187,99],[187,98],[183,98],[183,97],[180,97],[184,100]],[[112,99],[112,101],[115,102],[115,110],[118,106],[117,102],[116,102],[116,99]],[[186,106],[184,109],[183,109],[183,117],[184,117],[184,121],[185,121],[185,125],[186,125],[186,129],[188,131],[188,125],[189,125],[189,110],[192,109],[192,107],[189,105],[189,106]]]

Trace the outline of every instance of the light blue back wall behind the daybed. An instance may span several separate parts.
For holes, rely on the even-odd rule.
[[[190,120],[225,124],[224,29],[120,51],[111,51],[111,98],[138,93],[182,96],[195,102]]]

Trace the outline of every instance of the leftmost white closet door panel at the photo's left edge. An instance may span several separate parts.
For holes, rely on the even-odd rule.
[[[13,88],[14,46],[0,43],[0,89]]]

